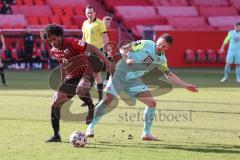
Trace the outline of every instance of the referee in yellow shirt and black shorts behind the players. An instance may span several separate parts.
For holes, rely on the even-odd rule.
[[[83,22],[82,40],[94,45],[103,51],[103,47],[108,43],[109,38],[107,35],[107,29],[102,20],[96,17],[96,11],[92,6],[87,6],[85,8],[85,14],[87,20]],[[104,63],[100,61],[97,56],[89,56],[89,61],[92,64],[93,72],[95,76],[95,81],[97,83],[99,101],[102,99],[103,95],[103,80],[101,71],[104,67]]]

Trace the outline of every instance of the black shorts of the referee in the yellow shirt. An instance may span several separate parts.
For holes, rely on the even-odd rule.
[[[103,51],[103,49],[100,50]],[[98,58],[98,56],[95,53],[91,53],[90,56],[88,56],[88,60],[92,65],[94,73],[103,71],[105,64],[100,60],[100,58]]]

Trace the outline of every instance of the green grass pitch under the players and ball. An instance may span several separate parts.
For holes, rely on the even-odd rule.
[[[120,101],[96,126],[95,138],[84,148],[74,148],[69,136],[86,130],[83,121],[61,121],[63,143],[44,142],[52,135],[51,72],[6,71],[9,87],[0,84],[0,160],[239,160],[240,84],[235,75],[220,84],[222,69],[173,72],[198,85],[199,93],[175,88],[155,97],[158,116],[152,132],[160,141],[140,140],[143,121],[138,115],[144,105]],[[86,110],[78,98],[73,101],[71,112]]]

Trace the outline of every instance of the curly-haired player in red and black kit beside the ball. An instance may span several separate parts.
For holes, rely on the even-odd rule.
[[[89,124],[93,119],[94,105],[89,90],[93,85],[94,76],[91,64],[84,52],[96,53],[104,61],[107,68],[109,70],[111,68],[111,63],[98,48],[79,39],[64,38],[63,34],[62,27],[55,24],[45,26],[40,32],[41,38],[52,46],[50,53],[60,63],[62,73],[62,83],[55,92],[51,105],[54,135],[46,142],[61,142],[59,133],[61,106],[74,95],[78,95],[88,105],[86,124]]]

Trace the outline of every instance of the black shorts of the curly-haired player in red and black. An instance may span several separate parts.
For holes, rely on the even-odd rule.
[[[78,86],[78,83],[81,81],[81,79],[88,79],[91,83],[91,86],[94,83],[94,77],[93,76],[83,76],[83,77],[75,77],[71,79],[64,79],[61,83],[60,87],[58,88],[58,91],[61,91],[65,94],[67,94],[68,98],[71,99],[73,96],[76,95],[76,89]]]

